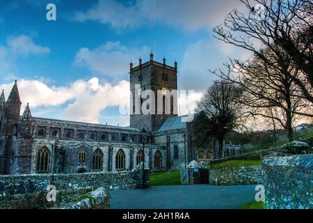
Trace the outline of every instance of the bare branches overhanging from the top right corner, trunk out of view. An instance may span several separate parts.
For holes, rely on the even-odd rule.
[[[300,97],[313,103],[313,3],[311,0],[240,0],[250,13],[234,9],[225,18],[224,24],[214,28],[214,37],[225,43],[252,52],[264,63],[271,63],[264,48],[280,56],[283,49],[294,63],[298,75],[289,78],[298,85]],[[264,7],[256,12],[255,6]],[[278,46],[278,47],[275,47]],[[294,112],[289,109],[289,112]],[[302,114],[312,116],[310,114]]]

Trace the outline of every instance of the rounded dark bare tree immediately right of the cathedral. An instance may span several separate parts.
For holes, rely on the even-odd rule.
[[[243,105],[234,100],[239,98],[241,93],[236,84],[221,80],[214,82],[198,102],[198,109],[209,118],[206,122],[209,125],[207,126],[209,132],[218,141],[218,157],[222,157],[225,134],[236,128],[243,116]]]

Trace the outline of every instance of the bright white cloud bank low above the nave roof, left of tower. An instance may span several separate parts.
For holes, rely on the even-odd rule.
[[[38,80],[21,79],[17,85],[22,100],[21,113],[27,102],[31,108],[66,105],[62,118],[99,123],[101,110],[106,107],[125,107],[129,104],[129,82],[125,80],[112,86],[108,83],[101,84],[99,79],[94,77],[88,82],[77,80],[70,86],[56,87],[47,86]],[[12,86],[13,83],[0,85],[0,89],[5,91],[6,98]]]

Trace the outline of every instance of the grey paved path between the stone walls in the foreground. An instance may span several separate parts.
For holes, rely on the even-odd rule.
[[[255,185],[175,185],[144,190],[112,190],[112,209],[219,209],[240,208],[255,199]]]

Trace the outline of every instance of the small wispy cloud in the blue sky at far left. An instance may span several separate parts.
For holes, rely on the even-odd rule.
[[[47,54],[49,47],[36,45],[29,36],[10,36],[7,40],[8,48],[13,54],[29,56],[31,54]]]

